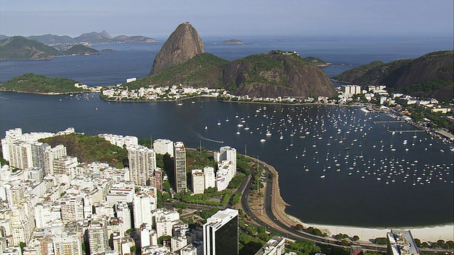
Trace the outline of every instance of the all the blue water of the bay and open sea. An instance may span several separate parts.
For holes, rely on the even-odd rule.
[[[333,76],[373,60],[389,62],[453,48],[452,38],[238,39],[245,44],[215,45],[216,38],[204,40],[206,52],[233,60],[274,49],[297,50],[301,56],[345,64],[324,69]],[[93,45],[118,52],[44,62],[0,62],[0,80],[35,72],[92,86],[118,84],[129,77],[148,75],[161,45]],[[189,147],[197,147],[199,142],[209,149],[231,145],[240,153],[247,147],[248,154],[276,167],[282,197],[292,205],[287,212],[305,222],[367,227],[453,222],[453,153],[449,146],[424,132],[387,132],[388,128],[414,129],[406,123],[372,123],[389,120],[386,115],[322,106],[267,106],[259,110],[256,104],[218,103],[211,98],[186,101],[184,106],[108,103],[96,94],[88,95],[89,101],[77,101],[70,96],[0,93],[0,132],[18,127],[23,132],[74,127],[91,135],[108,132],[165,137],[182,140]],[[238,128],[241,118],[245,122]],[[272,135],[266,136],[267,131]]]

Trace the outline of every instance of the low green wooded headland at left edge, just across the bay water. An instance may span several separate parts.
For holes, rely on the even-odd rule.
[[[70,93],[84,92],[86,89],[76,88],[79,83],[73,79],[48,78],[41,74],[23,74],[0,84],[0,91],[20,91],[33,93]]]

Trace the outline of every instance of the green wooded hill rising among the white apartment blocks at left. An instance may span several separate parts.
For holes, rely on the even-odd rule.
[[[101,137],[72,133],[39,140],[55,147],[65,145],[67,154],[77,157],[79,162],[106,162],[110,166],[123,168],[128,165],[128,151]]]

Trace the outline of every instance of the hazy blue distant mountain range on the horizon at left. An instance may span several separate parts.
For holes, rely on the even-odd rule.
[[[0,40],[4,40],[10,38],[7,35],[0,35]],[[31,35],[25,37],[30,40],[37,40],[38,42],[44,43],[45,45],[59,45],[59,44],[78,44],[78,43],[124,43],[124,42],[159,42],[153,38],[146,38],[142,35],[135,35],[135,36],[126,36],[126,35],[118,35],[114,38],[103,30],[101,33],[91,32],[91,33],[84,33],[82,35],[77,36],[76,38],[72,38],[68,35]]]

